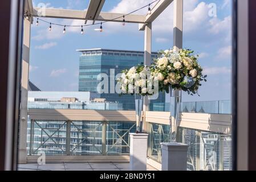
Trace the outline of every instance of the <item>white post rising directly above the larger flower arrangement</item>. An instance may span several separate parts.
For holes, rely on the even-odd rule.
[[[173,47],[174,51],[178,51],[183,41],[183,0],[174,0],[173,3]]]

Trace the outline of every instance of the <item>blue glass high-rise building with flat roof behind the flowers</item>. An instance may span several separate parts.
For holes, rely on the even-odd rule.
[[[144,62],[144,52],[141,51],[121,51],[112,49],[81,49],[82,52],[79,62],[79,91],[80,92],[94,92],[97,93],[97,85],[100,80],[97,76],[100,73],[110,75],[110,70],[115,70],[115,75],[120,73],[123,69],[129,69],[137,64]],[[157,57],[157,53],[152,53],[152,60]],[[110,83],[110,78],[108,80]],[[115,82],[116,83],[116,82]],[[109,84],[110,85],[110,84]],[[133,96],[119,96],[117,93],[97,94],[98,98],[105,98],[109,102],[119,102],[123,104],[124,110],[135,109],[135,101]],[[165,102],[165,94],[159,94],[157,100],[154,102]]]

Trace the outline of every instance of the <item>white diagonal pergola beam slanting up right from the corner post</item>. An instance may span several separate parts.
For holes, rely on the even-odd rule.
[[[151,9],[151,14],[146,16],[145,22],[139,25],[139,30],[145,30],[147,23],[152,23],[172,2],[173,0],[160,0],[157,2],[156,5]]]

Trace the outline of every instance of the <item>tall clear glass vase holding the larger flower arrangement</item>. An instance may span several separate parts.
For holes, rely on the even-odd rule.
[[[170,88],[170,90],[172,90]],[[180,115],[180,103],[181,103],[181,90],[173,89],[170,92],[170,97],[174,98],[174,104],[173,104],[173,113],[172,113],[172,105],[170,104],[170,126],[172,130],[171,134],[171,141],[177,142],[177,130],[178,130],[178,118]],[[174,118],[174,121],[172,122],[172,118]]]

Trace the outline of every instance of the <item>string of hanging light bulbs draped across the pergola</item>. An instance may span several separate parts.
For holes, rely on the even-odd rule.
[[[140,7],[140,8],[137,9],[137,10],[132,11],[131,13],[128,13],[128,14],[125,14],[125,15],[123,15],[123,16],[119,16],[119,17],[116,17],[116,18],[113,18],[113,19],[110,19],[110,20],[105,20],[104,22],[100,22],[100,23],[95,23],[95,24],[82,24],[82,25],[65,25],[65,24],[51,23],[51,22],[48,22],[48,21],[46,21],[46,20],[40,19],[40,18],[38,18],[38,16],[37,16],[37,19],[36,19],[36,26],[39,26],[39,20],[40,20],[41,22],[50,24],[50,26],[49,26],[49,28],[48,28],[48,31],[52,31],[52,26],[53,26],[53,25],[55,25],[55,26],[61,26],[61,27],[63,27],[63,34],[66,34],[66,28],[67,28],[67,27],[81,27],[81,34],[83,35],[83,34],[84,34],[84,27],[100,25],[100,28],[99,28],[99,29],[96,28],[95,30],[96,30],[96,31],[103,32],[103,24],[104,24],[104,23],[112,22],[113,20],[123,18],[122,24],[123,24],[123,26],[125,26],[125,23],[126,23],[125,16],[131,15],[131,14],[135,13],[136,11],[139,11],[139,10],[141,10],[141,9],[144,9],[145,7],[148,7],[148,14],[150,15],[150,14],[151,14],[151,7],[150,7],[150,6],[151,6],[153,3],[157,2],[157,1],[160,1],[160,0],[155,0],[155,1],[151,2],[151,3],[149,3],[148,5],[145,5],[145,6],[143,6],[143,7]],[[28,13],[28,11],[26,12],[25,17],[26,17],[26,19],[29,19],[29,13]]]

